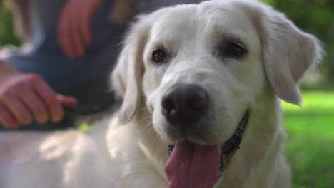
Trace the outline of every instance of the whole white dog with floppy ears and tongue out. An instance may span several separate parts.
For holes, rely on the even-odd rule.
[[[280,99],[300,104],[320,56],[258,1],[140,16],[113,71],[118,113],[88,132],[1,133],[0,187],[290,187]]]

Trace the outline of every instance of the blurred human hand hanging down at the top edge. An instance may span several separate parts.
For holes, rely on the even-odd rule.
[[[80,58],[91,43],[91,17],[102,0],[69,0],[58,20],[58,41],[69,58]]]

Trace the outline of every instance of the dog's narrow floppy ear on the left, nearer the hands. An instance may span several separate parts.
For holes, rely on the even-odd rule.
[[[123,98],[119,117],[128,122],[141,105],[143,77],[143,48],[146,44],[151,24],[145,16],[129,29],[123,42],[123,49],[112,73],[111,82],[116,94]]]

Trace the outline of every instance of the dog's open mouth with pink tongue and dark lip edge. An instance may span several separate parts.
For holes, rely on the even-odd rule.
[[[165,166],[169,187],[213,187],[241,144],[249,114],[246,111],[233,135],[222,145],[205,146],[186,140],[169,145]]]

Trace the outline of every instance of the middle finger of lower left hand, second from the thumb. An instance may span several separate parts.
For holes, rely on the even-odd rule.
[[[34,115],[34,119],[40,124],[44,124],[49,120],[48,110],[39,96],[28,85],[24,85],[24,93],[18,93],[19,98],[29,108]]]

